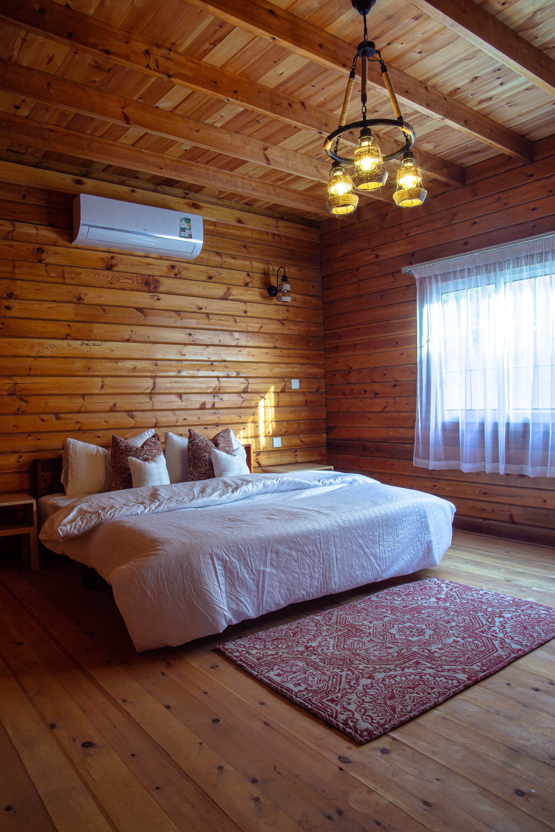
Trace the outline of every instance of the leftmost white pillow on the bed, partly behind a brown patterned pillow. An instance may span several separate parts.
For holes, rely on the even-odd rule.
[[[67,438],[63,456],[62,483],[68,497],[111,490],[110,451]]]

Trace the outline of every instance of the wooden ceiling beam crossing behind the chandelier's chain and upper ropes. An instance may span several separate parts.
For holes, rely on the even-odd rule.
[[[12,0],[11,0],[12,2]],[[201,8],[221,20],[264,37],[280,46],[309,58],[322,67],[339,70],[348,75],[354,56],[354,47],[340,37],[335,37],[267,0],[189,0],[191,6]],[[370,21],[371,25],[371,21]],[[361,30],[362,31],[362,30]],[[370,32],[370,37],[372,33]],[[360,63],[360,62],[359,62]],[[387,95],[382,73],[377,62],[369,62],[369,84]],[[418,78],[395,67],[388,67],[399,101],[416,107],[426,115],[434,116],[449,126],[484,141],[509,156],[532,161],[532,142],[519,136],[508,127],[484,116],[472,107],[428,87]]]

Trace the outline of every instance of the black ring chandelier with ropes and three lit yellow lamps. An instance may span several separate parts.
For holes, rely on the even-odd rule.
[[[345,90],[343,109],[339,117],[339,127],[333,133],[330,133],[330,136],[327,136],[324,142],[324,150],[334,160],[331,166],[330,180],[328,181],[328,200],[325,206],[334,215],[352,214],[359,204],[357,194],[368,195],[373,191],[379,191],[379,188],[385,185],[388,178],[387,171],[384,171],[384,161],[391,161],[392,159],[397,159],[399,156],[403,156],[403,158],[397,171],[397,188],[393,195],[394,201],[400,208],[420,206],[426,198],[427,191],[424,190],[422,172],[411,150],[415,139],[414,128],[408,121],[404,121],[381,53],[379,49],[376,49],[374,42],[368,39],[366,15],[369,14],[376,0],[351,0],[351,2],[357,12],[364,17],[364,41],[359,43],[357,52],[354,55],[353,67],[351,68],[347,89]],[[378,57],[374,58],[374,55]],[[351,121],[349,124],[345,124],[351,92],[353,92],[356,65],[359,58],[361,60],[360,103],[362,120]],[[369,60],[379,62],[385,88],[389,92],[391,106],[393,106],[396,116],[395,119],[366,118]],[[379,149],[378,142],[372,135],[372,127],[378,126],[397,127],[403,134],[404,146],[400,147],[394,153],[389,153],[389,156],[384,156]],[[360,130],[360,136],[354,147],[354,158],[349,159],[344,156],[339,156],[339,139],[344,133],[354,130]],[[354,173],[352,176],[349,176],[347,171],[345,171],[344,165],[354,165]]]

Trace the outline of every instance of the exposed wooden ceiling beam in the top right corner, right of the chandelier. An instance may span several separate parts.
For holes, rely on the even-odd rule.
[[[555,96],[555,61],[473,0],[411,0],[505,67]]]

